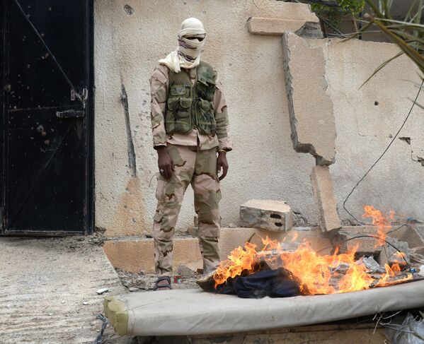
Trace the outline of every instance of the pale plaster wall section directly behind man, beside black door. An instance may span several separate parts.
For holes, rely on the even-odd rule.
[[[125,11],[126,5],[132,11]],[[295,153],[290,140],[281,38],[249,35],[246,28],[250,16],[301,20],[311,16],[309,7],[271,0],[96,0],[96,226],[105,228],[106,235],[151,230],[157,167],[149,77],[157,61],[175,49],[176,32],[190,16],[205,24],[203,58],[224,84],[234,138],[229,175],[222,182],[223,225],[237,223],[239,206],[250,198],[285,200],[316,223],[309,178],[314,159]],[[130,105],[136,178],[128,167],[121,81]],[[189,190],[180,232],[193,226],[192,203]]]

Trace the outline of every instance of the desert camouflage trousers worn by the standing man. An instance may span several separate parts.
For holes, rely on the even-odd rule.
[[[217,178],[217,148],[200,150],[196,146],[168,143],[175,172],[169,181],[158,174],[153,238],[156,274],[172,275],[173,235],[178,213],[188,184],[194,191],[195,212],[199,225],[199,246],[203,271],[210,273],[219,264],[219,217],[221,199]]]

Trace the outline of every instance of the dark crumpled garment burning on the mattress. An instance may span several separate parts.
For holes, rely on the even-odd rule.
[[[218,285],[218,294],[237,295],[243,298],[292,297],[300,294],[299,283],[285,268],[262,270],[251,275],[229,278]]]

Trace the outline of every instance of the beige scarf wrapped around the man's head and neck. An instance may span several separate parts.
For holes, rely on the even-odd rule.
[[[159,60],[160,64],[166,65],[172,71],[179,73],[181,68],[195,68],[200,63],[200,52],[205,45],[205,28],[200,20],[188,18],[181,24],[178,31],[178,48],[168,54],[165,59]],[[189,40],[187,37],[192,38]],[[199,37],[202,40],[193,37]]]

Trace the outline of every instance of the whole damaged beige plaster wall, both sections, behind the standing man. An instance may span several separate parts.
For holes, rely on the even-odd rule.
[[[292,148],[281,37],[250,35],[246,28],[251,16],[311,18],[309,7],[272,0],[96,0],[96,226],[105,228],[108,236],[144,235],[151,230],[157,167],[151,147],[149,77],[158,59],[175,49],[176,32],[189,16],[205,23],[202,56],[219,72],[229,105],[235,149],[228,154],[229,175],[222,182],[223,225],[237,223],[239,206],[249,198],[285,200],[309,224],[316,224],[309,177],[315,162]],[[401,81],[417,80],[406,59],[394,62],[358,91],[375,66],[396,51],[388,44],[369,43],[367,49],[362,44],[349,42],[337,48],[331,44],[326,50],[328,92],[338,132],[331,173],[339,203],[384,149],[389,134],[395,134],[410,105],[407,97],[416,91],[412,83]],[[129,102],[127,122],[120,99],[122,85]],[[411,159],[411,149],[423,150],[418,130],[423,119],[418,110],[413,113],[402,134],[413,136],[411,146],[396,140],[379,168],[353,195],[350,204],[355,214],[360,214],[363,203],[373,203],[424,218],[424,202],[418,197],[424,191],[424,167]],[[130,141],[136,177],[129,164]],[[188,190],[180,233],[193,226],[192,203],[193,192]]]

